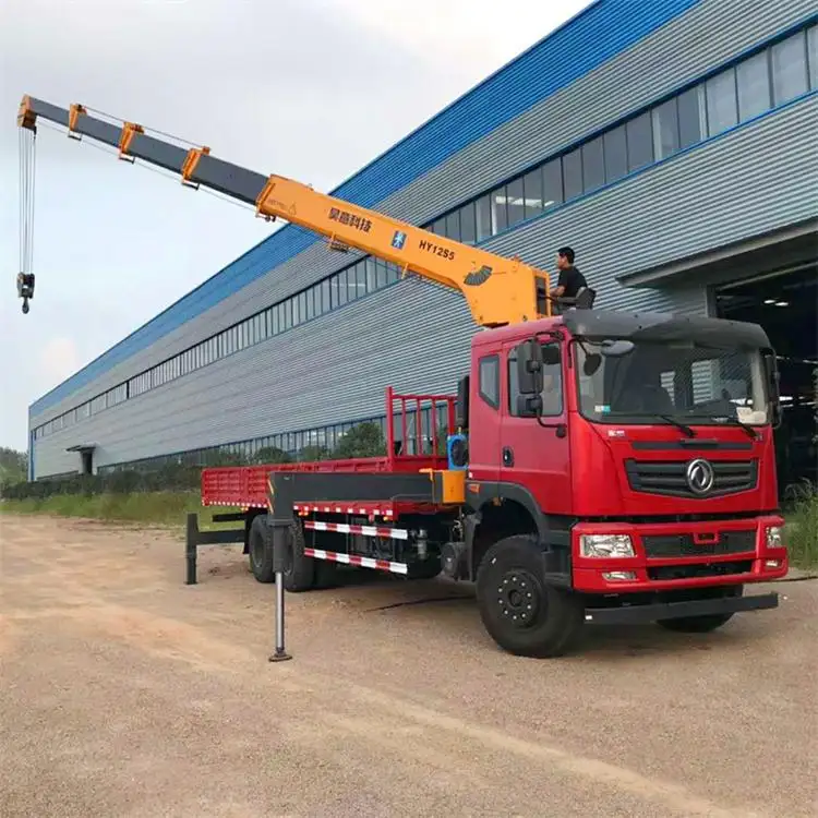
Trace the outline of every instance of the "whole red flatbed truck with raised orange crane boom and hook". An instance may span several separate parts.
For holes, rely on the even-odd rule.
[[[744,594],[787,572],[772,438],[778,372],[761,327],[594,310],[591,288],[573,302],[553,299],[548,274],[516,256],[133,122],[112,124],[82,105],[23,97],[24,156],[39,118],[313,230],[329,250],[357,249],[457,290],[482,327],[456,397],[387,392],[383,457],[203,471],[204,505],[241,509],[260,581],[274,578],[274,542],[288,546],[292,592],[330,585],[345,563],[408,578],[443,573],[476,584],[489,634],[525,655],[566,651],[584,623],[655,621],[702,633],[778,604],[775,593]],[[34,185],[26,179],[22,189],[31,197]],[[23,206],[31,213],[33,201]],[[34,273],[23,266],[27,311]],[[424,412],[434,421],[426,447]],[[233,534],[197,539],[191,528],[195,517],[195,581],[196,543]]]

